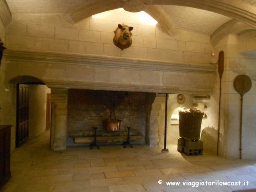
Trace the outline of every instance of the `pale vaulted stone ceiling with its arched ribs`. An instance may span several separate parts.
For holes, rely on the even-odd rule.
[[[3,1],[3,0],[2,0]],[[171,36],[178,30],[222,36],[256,30],[256,0],[4,0],[12,15],[62,14],[70,23],[117,8],[145,11]]]

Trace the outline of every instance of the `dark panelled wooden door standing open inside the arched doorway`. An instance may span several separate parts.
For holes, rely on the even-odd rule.
[[[27,141],[29,137],[29,86],[17,85],[17,125],[16,147]]]

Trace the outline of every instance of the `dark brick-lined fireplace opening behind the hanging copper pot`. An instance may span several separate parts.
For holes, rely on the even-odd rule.
[[[67,145],[92,143],[94,127],[97,127],[97,142],[101,145],[125,142],[127,127],[131,127],[131,143],[146,143],[146,117],[151,110],[148,106],[152,104],[148,97],[152,95],[154,93],[69,90]],[[121,120],[119,131],[106,131],[102,127],[102,121],[110,118],[112,111],[116,119]]]

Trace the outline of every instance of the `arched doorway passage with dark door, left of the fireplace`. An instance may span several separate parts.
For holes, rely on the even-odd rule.
[[[28,138],[46,131],[50,119],[50,113],[47,113],[50,111],[47,108],[51,108],[47,104],[50,89],[40,79],[31,76],[16,77],[10,82],[16,85],[15,145],[19,147]]]

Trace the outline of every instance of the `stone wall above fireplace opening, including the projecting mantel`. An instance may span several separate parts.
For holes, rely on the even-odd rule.
[[[134,27],[133,44],[123,51],[113,44],[118,23]],[[57,14],[14,15],[6,31],[6,81],[29,75],[51,88],[161,93],[210,92],[215,81],[209,36],[180,30],[171,37],[130,12],[73,25]]]

